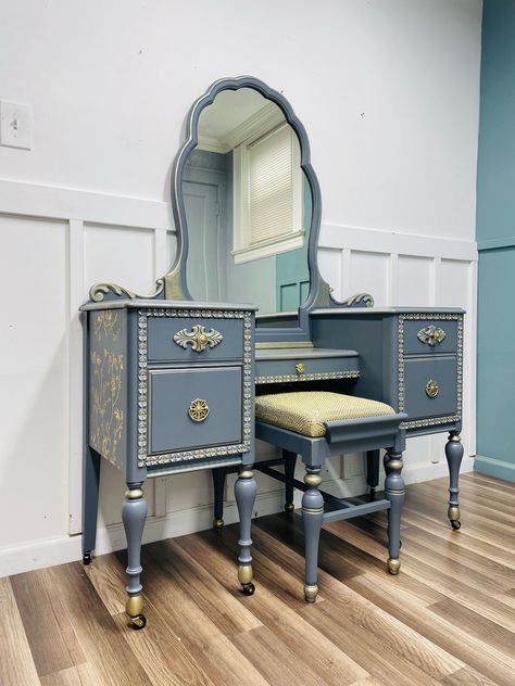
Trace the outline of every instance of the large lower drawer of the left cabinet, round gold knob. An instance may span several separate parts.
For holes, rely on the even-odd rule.
[[[242,442],[241,367],[149,371],[148,453]]]

